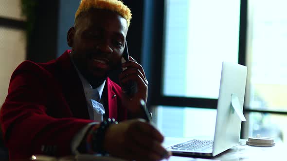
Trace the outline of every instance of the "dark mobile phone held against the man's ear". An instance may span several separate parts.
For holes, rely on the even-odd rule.
[[[125,49],[122,57],[122,64],[129,61],[128,49],[127,49],[127,42],[125,44]],[[127,67],[122,67],[122,70],[126,70]],[[137,82],[135,81],[128,81],[125,84],[122,84],[122,91],[130,98],[134,96],[138,92]]]

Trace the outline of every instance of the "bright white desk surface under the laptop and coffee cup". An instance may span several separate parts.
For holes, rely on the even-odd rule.
[[[164,147],[169,147],[177,143],[186,141],[186,138],[165,138],[163,143]],[[245,139],[240,140],[238,145],[231,149],[219,154],[212,159],[196,159],[187,157],[175,157],[172,156],[169,161],[285,161],[287,145],[283,143],[276,143],[272,147],[256,147],[246,145]],[[38,161],[124,161],[110,157],[95,157],[92,155],[82,155],[78,157],[63,157],[60,159],[50,158],[51,160],[38,160]],[[37,160],[36,160],[37,161]],[[166,161],[166,160],[163,160]]]

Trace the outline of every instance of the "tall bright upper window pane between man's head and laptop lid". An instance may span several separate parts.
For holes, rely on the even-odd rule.
[[[222,61],[238,61],[239,16],[240,0],[166,0],[163,95],[218,98]]]

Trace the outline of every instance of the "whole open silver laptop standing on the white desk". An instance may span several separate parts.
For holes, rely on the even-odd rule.
[[[246,66],[223,62],[214,136],[207,139],[192,138],[167,147],[167,150],[172,151],[173,155],[210,158],[237,145],[240,138],[241,121],[245,119],[242,111],[246,77]],[[234,107],[236,103],[237,109]]]

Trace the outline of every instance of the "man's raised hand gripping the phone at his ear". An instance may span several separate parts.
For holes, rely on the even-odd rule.
[[[143,99],[146,103],[148,81],[146,80],[142,65],[138,64],[132,57],[129,57],[129,59],[130,61],[122,64],[127,69],[119,75],[120,83],[123,85],[128,81],[135,81],[137,82],[138,91],[132,98],[123,94],[123,101],[133,116],[140,116],[143,114],[140,109],[140,100]]]

